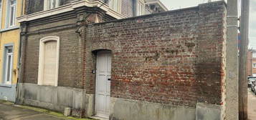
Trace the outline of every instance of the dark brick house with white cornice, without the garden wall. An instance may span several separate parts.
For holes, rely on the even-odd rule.
[[[82,32],[85,24],[143,15],[143,0],[24,0],[18,103],[91,116]]]

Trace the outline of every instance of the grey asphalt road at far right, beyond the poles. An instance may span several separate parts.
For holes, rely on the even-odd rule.
[[[256,96],[248,89],[248,120],[256,120]]]

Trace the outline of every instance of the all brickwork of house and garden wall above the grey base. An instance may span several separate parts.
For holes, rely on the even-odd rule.
[[[111,97],[174,106],[222,104],[223,1],[100,24],[77,25],[79,15],[73,11],[66,15],[70,18],[63,16],[56,16],[60,21],[28,22],[27,38],[22,39],[26,43],[22,82],[37,84],[39,39],[60,36],[58,86],[84,88],[94,94],[95,53],[108,49],[113,56]],[[51,22],[42,24],[47,20]]]

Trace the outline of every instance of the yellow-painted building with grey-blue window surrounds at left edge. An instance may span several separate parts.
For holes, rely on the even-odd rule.
[[[22,1],[0,0],[0,99],[15,101],[18,81],[19,23]]]

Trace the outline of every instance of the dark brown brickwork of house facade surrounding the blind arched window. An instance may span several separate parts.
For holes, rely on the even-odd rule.
[[[86,11],[86,12],[85,12]],[[24,69],[22,69],[21,82],[37,84],[38,63],[39,63],[39,40],[45,36],[60,37],[60,66],[58,86],[73,87],[83,89],[85,87],[82,67],[82,46],[78,19],[80,15],[89,16],[90,12],[103,12],[98,8],[78,8],[75,11],[49,16],[34,21],[29,21],[23,27],[27,31],[22,31],[22,46],[24,52]],[[80,14],[83,13],[83,14]],[[65,16],[65,17],[64,17]],[[84,17],[85,18],[85,17]],[[90,18],[90,16],[88,17]],[[112,17],[103,14],[103,21],[109,21]],[[24,24],[24,23],[22,23]],[[81,54],[81,55],[80,55]]]

